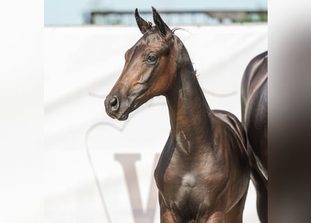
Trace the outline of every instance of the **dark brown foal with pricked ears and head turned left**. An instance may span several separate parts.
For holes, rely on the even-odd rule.
[[[106,112],[126,120],[150,98],[166,97],[171,134],[154,171],[162,223],[242,222],[249,184],[243,126],[210,110],[187,49],[152,10],[156,26],[136,10],[143,37],[125,54]]]

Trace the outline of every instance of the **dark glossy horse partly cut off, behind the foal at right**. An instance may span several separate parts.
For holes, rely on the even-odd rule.
[[[242,121],[261,222],[268,222],[268,52],[249,62],[241,88]]]

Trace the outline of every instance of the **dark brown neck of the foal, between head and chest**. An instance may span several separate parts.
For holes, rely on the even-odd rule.
[[[173,137],[192,144],[212,144],[213,114],[198,84],[187,49],[182,47],[177,77],[166,94]]]

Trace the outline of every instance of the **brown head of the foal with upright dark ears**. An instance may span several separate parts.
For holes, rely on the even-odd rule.
[[[135,11],[143,37],[125,53],[124,69],[105,100],[107,114],[126,120],[129,113],[157,95],[165,95],[175,81],[178,43],[171,29],[152,8],[155,26]]]

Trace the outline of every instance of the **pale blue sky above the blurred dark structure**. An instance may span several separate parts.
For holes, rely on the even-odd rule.
[[[266,10],[268,0],[45,0],[45,24],[83,24],[90,10]]]

